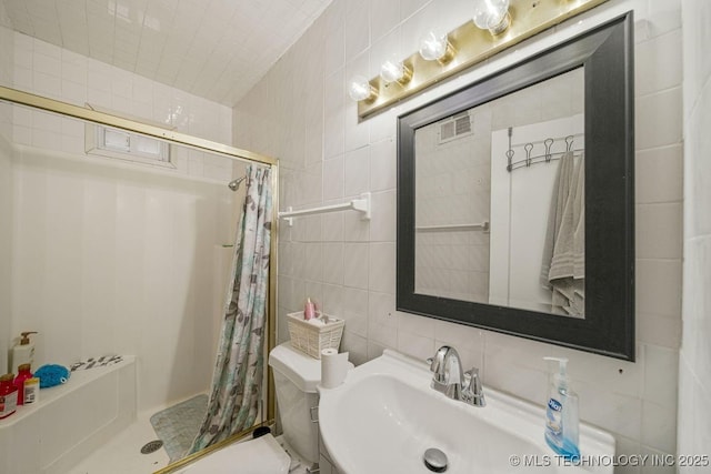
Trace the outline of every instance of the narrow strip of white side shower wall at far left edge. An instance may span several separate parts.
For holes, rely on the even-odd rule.
[[[0,8],[0,14],[3,14]],[[0,28],[0,83],[12,81],[12,32]],[[10,333],[12,258],[12,109],[0,103],[0,334]],[[8,366],[9,339],[0,337],[0,371]]]

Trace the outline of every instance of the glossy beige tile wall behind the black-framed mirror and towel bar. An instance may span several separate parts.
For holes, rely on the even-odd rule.
[[[612,432],[619,453],[677,452],[682,275],[681,3],[613,0],[498,54],[362,123],[348,79],[374,77],[385,54],[413,52],[425,29],[467,21],[467,1],[336,0],[234,108],[234,143],[281,160],[281,208],[373,194],[372,220],[336,213],[280,230],[279,327],[311,296],[347,319],[342,349],[363,363],[393,347],[430,356],[444,343],[487,385],[542,404],[541,357],[562,355],[584,421]],[[628,10],[634,10],[637,362],[622,362],[395,311],[395,118]],[[329,467],[330,468],[330,467]],[[618,473],[648,472],[620,466]],[[328,472],[328,471],[327,471]],[[659,472],[659,471],[654,471]],[[661,472],[673,472],[673,468]]]

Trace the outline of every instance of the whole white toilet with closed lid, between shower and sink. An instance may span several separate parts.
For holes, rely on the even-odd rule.
[[[237,443],[197,461],[181,474],[228,473],[234,466],[248,474],[302,473],[319,462],[319,426],[311,416],[316,418],[319,404],[321,361],[284,342],[270,352],[269,366],[274,374],[282,442],[267,434]]]

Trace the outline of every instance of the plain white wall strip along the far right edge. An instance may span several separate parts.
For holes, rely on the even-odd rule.
[[[711,446],[711,3],[683,0],[684,293],[679,356],[680,454]],[[680,472],[695,472],[693,467]]]

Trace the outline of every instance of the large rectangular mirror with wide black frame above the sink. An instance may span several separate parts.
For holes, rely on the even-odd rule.
[[[634,360],[632,29],[399,118],[399,311]]]

